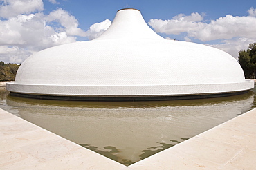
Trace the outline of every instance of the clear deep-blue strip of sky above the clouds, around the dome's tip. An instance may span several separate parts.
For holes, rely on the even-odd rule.
[[[56,0],[59,4],[53,4],[44,1],[46,12],[51,12],[55,8],[62,8],[75,16],[80,27],[88,29],[95,22],[101,22],[105,19],[113,20],[116,11],[122,8],[136,8],[142,12],[146,22],[149,19],[172,19],[172,17],[183,13],[190,15],[192,12],[205,13],[205,20],[217,19],[230,14],[233,16],[246,16],[248,10],[253,7],[255,1],[189,1],[189,0]],[[255,5],[256,8],[256,5]]]

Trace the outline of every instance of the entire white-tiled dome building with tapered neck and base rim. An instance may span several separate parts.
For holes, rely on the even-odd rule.
[[[139,10],[123,9],[97,39],[30,56],[15,82],[6,86],[12,94],[30,97],[164,100],[235,94],[253,88],[254,82],[244,79],[228,53],[163,39]]]

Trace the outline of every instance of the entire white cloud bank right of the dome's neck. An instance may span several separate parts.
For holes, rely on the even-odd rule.
[[[185,41],[192,41],[192,38],[204,42],[221,40],[221,44],[210,46],[224,50],[237,58],[239,50],[247,49],[248,44],[256,41],[256,10],[250,8],[248,14],[249,16],[242,17],[226,15],[210,23],[203,21],[204,14],[180,14],[170,20],[151,19],[149,25],[156,32],[167,35],[183,33]]]

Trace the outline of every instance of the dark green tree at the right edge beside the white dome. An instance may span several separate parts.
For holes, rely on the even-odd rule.
[[[256,43],[249,44],[249,49],[240,50],[238,62],[244,70],[247,79],[256,77]]]

